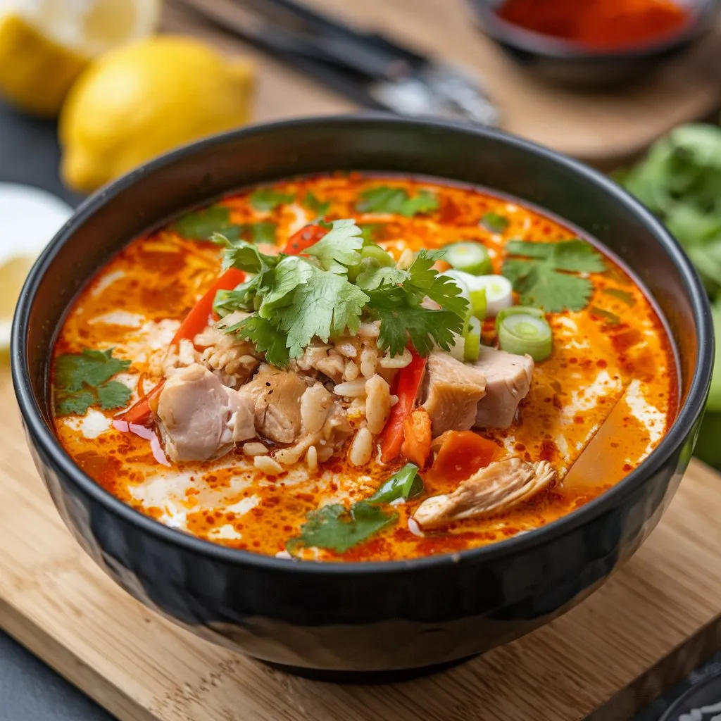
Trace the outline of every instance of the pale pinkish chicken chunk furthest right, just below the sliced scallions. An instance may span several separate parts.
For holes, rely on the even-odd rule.
[[[486,394],[478,403],[474,428],[509,428],[531,387],[534,359],[482,346],[474,366],[486,378]]]

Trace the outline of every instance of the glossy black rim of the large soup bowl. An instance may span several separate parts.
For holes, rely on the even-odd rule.
[[[436,556],[419,557],[413,559],[395,559],[389,561],[363,561],[363,562],[297,562],[293,559],[276,558],[257,554],[244,549],[215,544],[212,541],[200,539],[197,536],[180,531],[177,528],[166,526],[150,516],[146,516],[122,500],[102,488],[91,477],[81,471],[71,457],[66,454],[53,430],[45,423],[40,412],[41,402],[36,399],[30,384],[28,368],[27,329],[30,314],[35,304],[35,293],[40,278],[47,273],[56,255],[60,252],[66,241],[71,239],[78,226],[84,224],[94,214],[97,208],[110,203],[116,195],[127,187],[133,185],[148,172],[166,167],[176,162],[182,162],[193,156],[200,149],[213,146],[222,146],[224,143],[236,139],[262,136],[268,132],[286,131],[297,128],[314,128],[319,125],[360,125],[377,127],[379,125],[392,125],[396,127],[418,128],[419,130],[441,131],[446,133],[460,133],[481,135],[490,138],[496,143],[514,146],[517,150],[533,154],[544,162],[564,167],[568,171],[578,174],[585,180],[596,185],[600,192],[611,195],[619,204],[632,211],[642,224],[653,234],[657,242],[668,252],[681,273],[686,287],[686,293],[691,302],[694,319],[698,327],[696,340],[696,366],[689,386],[689,392],[684,404],[679,409],[676,420],[666,433],[658,446],[642,463],[627,477],[622,479],[610,490],[599,495],[583,507],[567,513],[546,526],[535,528],[525,534],[518,534],[510,539],[497,541],[487,546],[466,549],[456,553],[438,554]],[[226,133],[219,133],[203,138],[195,143],[189,143],[178,149],[143,164],[128,174],[123,175],[109,185],[105,185],[79,205],[74,215],[58,231],[50,241],[43,254],[33,265],[20,293],[17,310],[12,325],[11,366],[17,402],[19,404],[22,420],[25,423],[29,439],[40,447],[43,464],[50,461],[54,472],[58,472],[77,487],[79,491],[89,496],[94,503],[101,505],[107,512],[120,518],[139,531],[155,536],[159,541],[177,545],[187,552],[208,557],[208,559],[224,562],[231,565],[248,565],[256,569],[265,569],[272,572],[310,573],[320,575],[376,575],[396,572],[415,572],[429,567],[451,567],[464,563],[474,563],[482,559],[490,561],[498,557],[508,557],[514,553],[522,552],[528,547],[538,546],[556,539],[559,536],[574,531],[594,518],[598,518],[606,510],[617,505],[625,497],[637,490],[652,474],[659,472],[671,457],[681,448],[696,422],[702,416],[706,397],[711,382],[711,372],[714,360],[714,334],[712,326],[711,308],[702,281],[696,273],[690,260],[686,257],[676,239],[663,227],[653,214],[638,200],[619,185],[600,172],[587,165],[558,153],[544,146],[527,141],[510,133],[485,128],[479,125],[469,125],[453,120],[435,120],[428,118],[401,118],[385,112],[363,112],[347,115],[325,115],[278,120],[272,123],[257,123],[247,125]],[[44,402],[43,402],[44,405]],[[47,460],[46,460],[47,459]]]

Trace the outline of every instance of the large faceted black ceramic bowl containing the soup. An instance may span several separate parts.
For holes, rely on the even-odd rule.
[[[112,497],[50,425],[48,358],[68,304],[136,234],[231,189],[359,169],[490,187],[585,229],[631,267],[676,340],[681,412],[641,466],[605,495],[522,536],[407,562],[293,562],[201,541]],[[681,481],[707,396],[706,295],[658,221],[601,174],[503,133],[348,116],[216,136],[138,168],[81,205],[32,269],[12,336],[30,448],[63,520],[118,584],[204,637],[301,673],[366,680],[439,668],[548,622],[598,588],[658,522]],[[412,669],[413,671],[407,671]],[[386,673],[379,673],[386,672]],[[358,678],[355,676],[353,678]]]

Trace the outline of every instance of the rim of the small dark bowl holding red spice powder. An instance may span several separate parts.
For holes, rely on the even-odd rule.
[[[689,9],[689,19],[678,32],[658,40],[649,40],[621,48],[593,48],[574,40],[527,30],[500,17],[489,0],[468,0],[475,16],[482,22],[482,30],[497,43],[511,45],[516,50],[545,58],[570,60],[638,60],[660,56],[702,37],[711,30],[710,19],[717,9],[717,0],[698,0]],[[581,0],[583,1],[583,0]]]

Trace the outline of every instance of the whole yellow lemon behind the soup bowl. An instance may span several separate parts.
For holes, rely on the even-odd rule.
[[[111,50],[63,107],[61,174],[90,192],[154,156],[246,123],[252,70],[199,40],[161,35]]]

